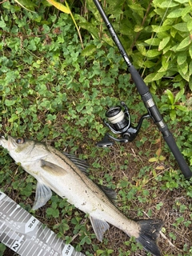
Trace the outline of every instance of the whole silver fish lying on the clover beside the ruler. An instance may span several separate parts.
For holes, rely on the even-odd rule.
[[[110,223],[129,237],[136,238],[151,254],[161,255],[155,240],[161,230],[162,220],[133,221],[127,218],[111,201],[114,191],[99,187],[87,177],[85,162],[70,154],[62,154],[52,146],[24,138],[9,136],[6,140],[2,137],[0,146],[6,148],[11,158],[37,179],[34,210],[46,204],[53,190],[89,214],[99,241],[102,241],[103,234],[110,228]]]

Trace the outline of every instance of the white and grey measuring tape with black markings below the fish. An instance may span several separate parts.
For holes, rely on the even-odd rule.
[[[1,191],[0,242],[22,256],[85,256]]]

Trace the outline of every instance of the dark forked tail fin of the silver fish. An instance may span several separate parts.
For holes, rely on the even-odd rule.
[[[139,237],[136,238],[137,242],[140,242],[145,250],[149,251],[155,256],[161,256],[161,252],[156,243],[158,234],[162,228],[163,222],[160,219],[144,219],[139,220],[140,226]]]

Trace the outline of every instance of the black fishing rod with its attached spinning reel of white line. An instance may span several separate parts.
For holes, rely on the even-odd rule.
[[[147,114],[143,114],[138,122],[138,126],[131,126],[130,113],[126,106],[125,102],[121,102],[122,106],[113,106],[110,107],[109,110],[106,111],[106,118],[108,120],[105,121],[106,126],[114,133],[120,134],[122,138],[115,138],[110,134],[106,134],[101,142],[97,143],[97,146],[111,146],[113,142],[131,142],[136,138],[138,131],[142,126],[142,121],[145,118],[152,118],[154,124],[158,127],[158,130],[161,131],[164,140],[167,145],[170,147],[171,152],[174,154],[174,158],[178,162],[178,166],[182,170],[182,174],[185,178],[189,179],[192,177],[192,172],[190,167],[187,165],[186,160],[183,158],[181,151],[178,149],[178,146],[174,140],[173,134],[171,134],[166,122],[162,118],[158,107],[154,103],[154,99],[150,94],[149,88],[146,86],[146,83],[143,81],[138,71],[135,69],[133,64],[130,62],[130,58],[126,54],[126,50],[123,48],[122,43],[120,42],[118,35],[114,31],[114,27],[111,25],[109,19],[106,16],[106,13],[102,9],[102,6],[98,2],[98,0],[94,0],[94,4],[97,7],[99,13],[102,16],[103,21],[106,23],[106,27],[110,32],[111,37],[114,40],[116,46],[118,46],[118,50],[122,54],[122,58],[124,58],[126,65],[128,66],[128,70],[132,76],[135,86],[138,89],[138,94],[140,94],[144,105],[146,106]],[[124,108],[124,112],[122,110]]]

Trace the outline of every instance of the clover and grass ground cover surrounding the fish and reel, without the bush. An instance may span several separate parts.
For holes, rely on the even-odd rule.
[[[90,178],[117,191],[116,205],[124,214],[164,220],[166,238],[159,239],[163,255],[190,256],[191,185],[153,122],[143,123],[134,142],[105,150],[95,146],[108,131],[102,122],[108,107],[126,102],[134,125],[146,113],[116,48],[81,30],[82,50],[70,16],[43,5],[35,14],[12,2],[0,8],[1,134],[48,142],[86,159]],[[150,89],[191,164],[191,91],[181,80],[178,86],[165,80]],[[1,189],[77,250],[86,255],[146,255],[114,227],[98,242],[87,216],[56,194],[45,207],[32,211],[36,181],[6,150],[0,156]],[[0,255],[8,254],[4,250],[1,244]]]

